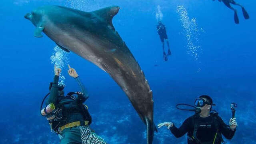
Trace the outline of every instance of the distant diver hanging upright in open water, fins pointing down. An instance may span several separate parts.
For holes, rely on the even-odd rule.
[[[168,37],[166,34],[166,27],[164,24],[162,24],[161,21],[159,21],[158,25],[156,26],[156,30],[157,30],[158,35],[160,36],[160,40],[161,40],[162,46],[163,46],[163,51],[164,51],[164,40],[166,40],[166,43],[168,46],[168,53],[166,55],[166,53],[164,51],[164,61],[167,61],[168,60],[167,56],[170,56],[172,53],[170,50],[169,41],[168,41]]]

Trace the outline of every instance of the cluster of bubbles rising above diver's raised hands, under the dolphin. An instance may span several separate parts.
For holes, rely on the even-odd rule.
[[[69,63],[69,57],[68,57],[68,52],[65,52],[64,50],[60,49],[58,46],[54,47],[54,52],[52,53],[51,56],[51,63],[56,64],[58,68],[61,68],[63,71],[63,68],[67,67]],[[60,74],[60,81],[59,84],[65,85],[65,77]]]

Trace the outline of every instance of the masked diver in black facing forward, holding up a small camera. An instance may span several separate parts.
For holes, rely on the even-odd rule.
[[[188,104],[178,105],[190,106]],[[222,135],[228,140],[234,136],[237,126],[236,118],[233,115],[229,125],[226,125],[217,112],[210,113],[212,106],[215,106],[210,96],[200,96],[196,99],[195,106],[196,114],[187,118],[180,128],[177,128],[172,122],[160,123],[158,128],[167,126],[167,129],[170,129],[176,138],[188,133],[188,144],[221,144],[221,142],[224,142]]]

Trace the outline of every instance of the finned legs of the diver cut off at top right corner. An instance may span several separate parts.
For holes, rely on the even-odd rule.
[[[214,0],[213,0],[214,1]],[[236,24],[239,24],[239,20],[238,20],[238,16],[237,16],[237,12],[236,9],[234,9],[230,4],[234,4],[237,6],[241,6],[242,8],[242,12],[244,15],[244,19],[249,19],[249,14],[246,12],[246,10],[244,9],[244,7],[241,4],[238,4],[237,2],[235,2],[234,0],[218,0],[219,2],[223,2],[228,8],[230,8],[231,10],[234,10],[234,20]]]

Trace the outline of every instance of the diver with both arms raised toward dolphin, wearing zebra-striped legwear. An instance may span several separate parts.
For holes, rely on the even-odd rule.
[[[64,96],[64,86],[58,85],[60,68],[54,66],[54,80],[50,83],[50,94],[46,100],[46,107],[41,114],[48,120],[51,130],[60,137],[60,144],[107,144],[90,128],[92,118],[88,106],[83,104],[88,99],[88,93],[80,82],[74,68],[68,65],[68,74],[79,84],[82,92],[69,92]]]

